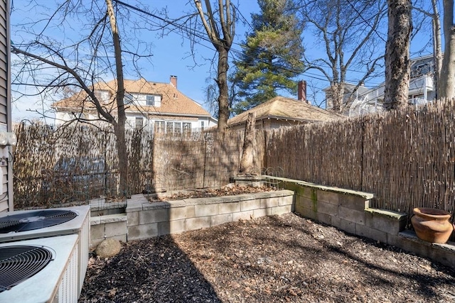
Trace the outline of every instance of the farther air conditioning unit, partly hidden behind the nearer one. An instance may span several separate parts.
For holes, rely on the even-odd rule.
[[[0,243],[75,234],[79,236],[77,293],[82,291],[90,245],[90,206],[0,214]]]

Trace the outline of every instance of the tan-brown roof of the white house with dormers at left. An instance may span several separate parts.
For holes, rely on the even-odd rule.
[[[117,89],[117,81],[97,82],[94,84],[95,91],[107,91],[111,101],[109,104],[102,104],[108,110],[114,109],[115,102],[113,96]],[[125,111],[141,111],[149,112],[150,114],[178,114],[178,115],[195,115],[195,116],[211,116],[208,111],[203,109],[200,104],[182,94],[171,83],[147,82],[141,78],[137,80],[124,80],[125,91],[130,94],[159,94],[161,95],[161,106],[137,106],[136,104],[128,104]],[[80,109],[81,106],[87,111],[95,110],[95,105],[90,98],[87,98],[85,92],[78,92],[71,97],[55,102],[52,106],[55,109]]]

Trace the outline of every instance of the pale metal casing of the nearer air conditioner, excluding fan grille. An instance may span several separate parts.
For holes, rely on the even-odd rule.
[[[0,292],[0,302],[21,303],[74,303],[79,291],[78,258],[79,236],[55,236],[36,238],[14,243],[0,243],[7,246],[41,246],[53,253],[53,260],[40,272],[24,280],[11,290]]]

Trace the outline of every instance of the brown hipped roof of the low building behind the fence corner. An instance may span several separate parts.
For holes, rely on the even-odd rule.
[[[326,111],[319,107],[307,104],[304,101],[285,97],[274,97],[263,104],[244,111],[228,120],[228,126],[245,123],[249,113],[256,113],[256,120],[261,119],[292,119],[302,122],[322,122],[343,119],[346,116],[336,114],[333,111]]]

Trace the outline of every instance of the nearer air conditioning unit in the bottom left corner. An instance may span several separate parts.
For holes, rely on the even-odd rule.
[[[0,302],[77,302],[79,236],[0,244]]]

